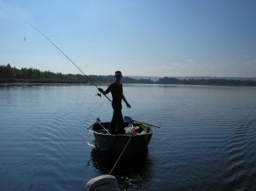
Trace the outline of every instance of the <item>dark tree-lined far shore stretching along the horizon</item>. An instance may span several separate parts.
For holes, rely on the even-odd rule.
[[[83,74],[62,74],[50,71],[40,71],[34,68],[18,69],[7,66],[0,66],[0,83],[109,83],[113,75],[83,75]],[[159,78],[157,81],[149,79],[135,79],[124,76],[122,83],[146,83],[146,84],[187,84],[187,85],[217,85],[217,86],[256,86],[256,81],[250,80],[228,80],[228,79],[183,79],[174,77]]]

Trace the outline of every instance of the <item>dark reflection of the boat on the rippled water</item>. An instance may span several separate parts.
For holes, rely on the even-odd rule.
[[[151,166],[153,166],[153,159],[149,159],[148,154],[143,158],[129,160],[122,156],[115,165],[119,156],[113,155],[111,152],[102,152],[97,148],[91,149],[91,163],[98,174],[109,174],[113,169],[111,175],[118,180],[118,185],[121,190],[149,190],[147,187],[151,186]]]

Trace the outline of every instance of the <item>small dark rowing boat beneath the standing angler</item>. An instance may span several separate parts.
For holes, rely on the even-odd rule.
[[[133,126],[138,130],[136,134],[110,134],[107,130],[110,122],[95,122],[90,128],[95,138],[95,146],[100,151],[112,152],[136,158],[145,155],[148,152],[148,145],[153,131],[150,126],[141,123],[135,123]],[[125,122],[125,126],[128,126]]]

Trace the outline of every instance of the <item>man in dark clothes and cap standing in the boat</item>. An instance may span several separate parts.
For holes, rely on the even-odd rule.
[[[109,92],[112,94],[112,107],[113,107],[113,117],[111,124],[109,126],[109,132],[111,134],[115,134],[116,128],[118,128],[117,133],[122,134],[124,132],[124,122],[121,113],[121,100],[123,100],[128,108],[131,108],[130,104],[127,102],[125,96],[123,95],[122,91],[122,84],[121,84],[121,71],[116,71],[115,74],[115,81],[113,81],[108,88],[104,91],[102,88],[98,88],[99,92],[106,95]]]

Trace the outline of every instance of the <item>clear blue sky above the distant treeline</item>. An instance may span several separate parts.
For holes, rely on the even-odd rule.
[[[0,0],[0,65],[256,77],[255,10],[254,0]]]

